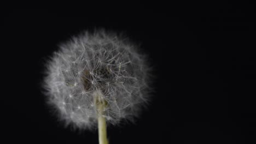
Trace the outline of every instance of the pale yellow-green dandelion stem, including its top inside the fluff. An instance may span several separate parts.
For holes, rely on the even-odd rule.
[[[106,118],[103,117],[106,102],[102,97],[103,95],[101,92],[96,92],[95,103],[97,105],[98,112],[98,141],[100,144],[108,144]]]

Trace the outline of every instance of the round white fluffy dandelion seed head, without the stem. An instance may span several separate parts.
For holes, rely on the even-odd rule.
[[[60,46],[46,65],[44,88],[66,124],[95,128],[100,95],[110,124],[132,121],[148,100],[150,68],[137,46],[115,33],[84,32]]]

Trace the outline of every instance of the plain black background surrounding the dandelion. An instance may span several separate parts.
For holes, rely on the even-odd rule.
[[[83,5],[82,5],[83,6]],[[97,143],[51,115],[40,82],[57,45],[80,31],[125,32],[154,65],[153,99],[109,143],[255,143],[255,14],[250,3],[102,4],[8,9],[1,48],[4,139]]]

